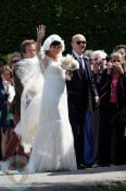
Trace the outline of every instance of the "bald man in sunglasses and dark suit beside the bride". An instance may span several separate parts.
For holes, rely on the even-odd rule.
[[[86,38],[81,34],[76,34],[72,37],[72,55],[78,60],[79,69],[73,72],[71,81],[66,81],[68,115],[74,133],[78,168],[83,168],[84,164],[84,124],[88,103],[88,88],[90,88],[93,102],[98,103],[99,100],[89,60],[84,57],[86,44]]]

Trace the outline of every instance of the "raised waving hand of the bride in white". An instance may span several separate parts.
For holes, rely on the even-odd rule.
[[[46,26],[45,25],[38,25],[37,27],[37,40],[41,41],[46,34]]]

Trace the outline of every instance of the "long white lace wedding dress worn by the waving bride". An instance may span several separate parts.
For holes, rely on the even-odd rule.
[[[68,121],[65,72],[48,60],[42,102],[28,171],[76,170],[72,128]]]

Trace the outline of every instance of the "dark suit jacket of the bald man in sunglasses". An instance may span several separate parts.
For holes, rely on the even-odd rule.
[[[78,70],[75,70],[73,72],[72,80],[66,81],[68,102],[72,102],[73,99],[73,102],[78,103],[79,107],[81,107],[83,110],[86,109],[86,105],[88,102],[88,88],[90,88],[92,99],[94,96],[98,96],[93,75],[90,70],[89,60],[84,57],[84,62],[85,71],[79,67]]]

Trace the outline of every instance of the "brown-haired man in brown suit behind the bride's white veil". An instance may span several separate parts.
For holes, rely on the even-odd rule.
[[[26,39],[21,44],[21,55],[23,59],[34,58],[36,56],[36,41],[34,39]],[[20,60],[22,61],[22,59]],[[18,62],[14,64],[13,69],[13,77],[14,77],[14,87],[15,87],[15,97],[13,100],[13,117],[14,117],[14,126],[20,122],[21,119],[21,96],[23,93],[23,84],[20,79],[20,72],[22,73],[23,70],[18,70]],[[10,158],[16,152],[17,155],[26,156],[27,154],[24,153],[24,147],[21,145],[20,138],[13,131],[12,138],[8,143],[7,151],[4,153],[4,160]]]

